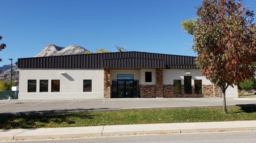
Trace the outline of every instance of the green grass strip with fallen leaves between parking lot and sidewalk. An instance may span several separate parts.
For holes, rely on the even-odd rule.
[[[255,108],[72,112],[0,117],[0,129],[256,120]]]

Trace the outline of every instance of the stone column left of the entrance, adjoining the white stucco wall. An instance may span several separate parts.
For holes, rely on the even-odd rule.
[[[104,69],[104,98],[110,98],[111,87],[110,87],[110,69]]]

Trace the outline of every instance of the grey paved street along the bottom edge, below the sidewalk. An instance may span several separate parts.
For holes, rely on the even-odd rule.
[[[17,141],[15,143],[256,143],[256,132],[137,135],[61,140],[32,140]]]

